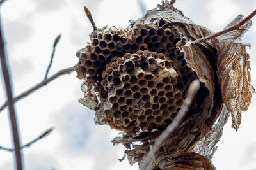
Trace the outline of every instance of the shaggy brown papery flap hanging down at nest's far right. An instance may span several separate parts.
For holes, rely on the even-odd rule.
[[[230,24],[234,25],[243,19],[239,15]],[[232,115],[232,127],[239,128],[241,123],[241,112],[248,110],[254,89],[250,76],[249,55],[246,52],[247,45],[241,42],[241,36],[252,25],[249,20],[239,31],[232,31],[220,36],[220,45],[218,48],[217,76],[220,82],[220,89],[223,102]]]

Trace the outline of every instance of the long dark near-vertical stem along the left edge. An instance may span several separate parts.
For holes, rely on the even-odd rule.
[[[1,67],[2,67],[2,73],[5,83],[5,89],[6,89],[6,96],[8,99],[8,108],[9,108],[9,116],[10,116],[10,122],[12,125],[12,138],[13,143],[15,146],[15,159],[16,159],[16,169],[22,170],[22,157],[20,152],[20,137],[19,137],[19,130],[17,125],[17,119],[15,115],[15,109],[14,109],[14,102],[12,98],[12,84],[10,79],[10,72],[8,70],[8,65],[6,62],[6,51],[4,48],[4,39],[3,39],[3,31],[2,31],[2,22],[1,22],[1,16],[0,16],[0,59],[1,59]]]

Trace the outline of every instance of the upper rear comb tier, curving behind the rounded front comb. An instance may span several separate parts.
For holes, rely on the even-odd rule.
[[[159,28],[158,25],[143,23],[135,24],[132,29],[121,27],[99,29],[98,32],[90,35],[92,43],[77,52],[77,57],[80,59],[80,63],[74,67],[78,73],[77,77],[94,76],[92,83],[95,83],[95,87],[99,87],[102,73],[108,64],[115,61],[116,57],[123,57],[125,53],[135,53],[138,50],[164,53],[172,60],[182,62],[184,60],[182,54],[180,57],[176,56],[179,52],[176,52],[177,49],[174,48],[180,37],[179,34],[173,34],[173,32],[175,32],[173,27],[162,25]],[[168,65],[168,62],[165,64]],[[180,68],[177,67],[177,69]]]

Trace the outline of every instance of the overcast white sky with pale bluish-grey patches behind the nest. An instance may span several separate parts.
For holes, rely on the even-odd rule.
[[[145,1],[145,0],[144,0]],[[146,7],[156,7],[160,0],[147,0]],[[84,15],[83,6],[92,12],[97,27],[115,25],[127,27],[129,19],[141,17],[136,0],[8,0],[1,6],[1,20],[12,69],[15,95],[44,78],[52,51],[52,42],[62,34],[49,75],[76,64],[76,51],[86,45],[92,26]],[[240,13],[255,10],[255,0],[177,0],[175,3],[196,24],[220,31]],[[256,19],[253,18],[253,24]],[[248,49],[252,67],[252,85],[256,87],[256,25],[244,35],[252,44]],[[123,146],[112,146],[118,131],[108,126],[94,125],[94,113],[77,102],[83,97],[82,80],[76,73],[62,76],[47,87],[15,104],[22,143],[36,138],[49,127],[51,135],[24,149],[27,170],[117,170],[138,169],[127,160],[119,163]],[[2,83],[3,84],[3,83]],[[4,103],[0,86],[0,104]],[[243,113],[238,132],[228,120],[218,150],[212,159],[217,169],[256,169],[256,97]],[[8,113],[0,113],[0,146],[12,147]],[[0,150],[0,169],[13,169],[12,153]]]

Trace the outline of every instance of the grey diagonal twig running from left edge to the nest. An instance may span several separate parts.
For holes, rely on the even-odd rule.
[[[31,94],[32,92],[34,92],[35,90],[39,89],[40,87],[43,87],[44,85],[47,85],[47,83],[51,82],[52,80],[58,78],[59,76],[62,76],[63,74],[69,74],[72,71],[74,71],[73,67],[68,67],[67,69],[61,69],[60,71],[58,71],[57,73],[53,74],[51,77],[41,81],[40,83],[37,83],[36,85],[34,85],[33,87],[29,88],[28,90],[26,90],[25,92],[22,92],[21,94],[19,94],[17,97],[15,97],[13,99],[13,102],[15,103],[16,101],[18,101],[19,99],[22,99],[23,97],[28,96],[29,94]],[[0,107],[0,112],[6,107],[8,106],[8,103],[4,103],[1,107]]]

